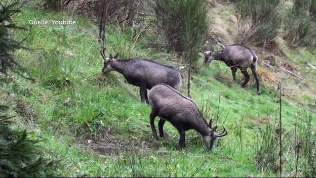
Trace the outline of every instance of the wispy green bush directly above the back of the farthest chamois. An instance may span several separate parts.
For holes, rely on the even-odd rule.
[[[267,46],[278,34],[281,18],[280,0],[238,0],[235,9],[238,19],[237,42],[241,45]]]

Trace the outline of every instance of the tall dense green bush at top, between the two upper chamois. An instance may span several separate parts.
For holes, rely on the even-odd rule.
[[[206,0],[155,0],[158,31],[171,51],[185,54],[187,61],[197,60],[197,48],[207,29]]]

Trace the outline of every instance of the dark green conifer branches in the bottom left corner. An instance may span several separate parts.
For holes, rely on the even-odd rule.
[[[13,129],[8,107],[0,105],[0,177],[51,177],[53,162],[43,158],[40,140],[30,138],[26,131]]]

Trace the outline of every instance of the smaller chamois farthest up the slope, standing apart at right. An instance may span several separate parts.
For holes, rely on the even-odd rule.
[[[207,66],[212,62],[212,60],[220,60],[225,62],[225,64],[232,70],[233,80],[236,80],[236,71],[237,68],[239,68],[242,74],[245,76],[245,81],[241,84],[242,88],[246,86],[250,79],[247,72],[247,68],[250,67],[256,80],[257,94],[260,95],[259,78],[257,73],[258,57],[253,50],[242,45],[228,45],[221,51],[214,51],[212,48],[211,50],[205,51],[203,53],[205,56],[204,64]]]

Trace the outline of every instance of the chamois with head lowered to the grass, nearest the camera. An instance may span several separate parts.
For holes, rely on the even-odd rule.
[[[217,127],[212,128],[212,120],[207,124],[195,102],[168,85],[156,85],[149,91],[148,97],[152,108],[150,126],[155,139],[158,139],[154,123],[157,116],[160,117],[158,122],[160,137],[163,137],[165,121],[169,121],[180,134],[177,144],[180,149],[185,147],[185,131],[190,129],[201,134],[208,149],[212,149],[213,142],[217,137],[227,135],[225,128],[222,133],[217,134],[215,132]]]

